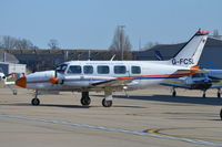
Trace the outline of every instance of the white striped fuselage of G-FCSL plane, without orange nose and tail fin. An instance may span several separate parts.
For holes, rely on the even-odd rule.
[[[169,64],[169,61],[71,61],[58,70],[59,84],[52,84],[54,71],[36,72],[27,75],[27,88],[54,91],[100,91],[103,87],[93,84],[131,77],[125,88],[144,88],[159,84],[165,78],[180,77],[178,70],[189,70],[185,66]],[[75,71],[74,71],[75,70]],[[188,73],[186,73],[188,74]],[[122,90],[123,85],[111,85],[113,90]]]

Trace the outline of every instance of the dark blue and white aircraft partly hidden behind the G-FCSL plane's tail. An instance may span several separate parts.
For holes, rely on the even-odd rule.
[[[203,91],[203,97],[209,88],[218,88],[218,97],[221,97],[222,70],[203,70],[203,73],[192,74],[190,76],[179,77],[176,80],[167,80],[161,85],[172,87],[172,96],[176,96],[175,88],[200,90]]]

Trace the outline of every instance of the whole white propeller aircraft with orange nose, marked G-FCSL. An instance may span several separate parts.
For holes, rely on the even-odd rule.
[[[209,31],[198,31],[169,61],[70,61],[54,71],[36,72],[19,78],[20,87],[36,90],[32,105],[39,105],[39,91],[77,91],[81,104],[90,105],[89,92],[103,91],[104,107],[112,106],[112,92],[145,88],[165,78],[194,74]]]

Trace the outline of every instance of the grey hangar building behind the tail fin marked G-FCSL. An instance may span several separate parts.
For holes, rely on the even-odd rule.
[[[160,44],[155,45],[147,51],[134,52],[134,60],[139,61],[150,61],[158,60],[155,57],[155,51],[159,51],[163,60],[170,60],[174,56],[175,53],[184,45],[185,43],[179,44]],[[222,69],[222,40],[215,38],[209,38],[205,46],[203,49],[203,53],[201,55],[199,64],[201,67],[205,69]]]

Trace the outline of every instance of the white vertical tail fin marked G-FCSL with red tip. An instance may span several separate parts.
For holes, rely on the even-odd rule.
[[[171,59],[173,65],[195,66],[200,60],[210,31],[199,30],[188,43]]]

